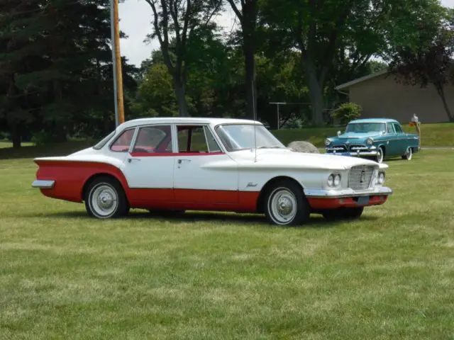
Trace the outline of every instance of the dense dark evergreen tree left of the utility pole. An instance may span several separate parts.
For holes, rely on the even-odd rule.
[[[26,131],[61,141],[111,130],[109,38],[108,0],[0,0],[0,114],[15,147]],[[124,67],[134,91],[136,70]]]

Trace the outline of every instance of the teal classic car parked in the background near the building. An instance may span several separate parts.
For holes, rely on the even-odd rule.
[[[404,132],[397,120],[369,118],[351,120],[345,132],[327,138],[325,146],[328,154],[367,157],[382,163],[392,157],[410,160],[421,143],[419,135]]]

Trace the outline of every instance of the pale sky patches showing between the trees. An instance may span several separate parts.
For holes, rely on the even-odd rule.
[[[454,7],[454,0],[441,0],[441,4]],[[145,0],[125,0],[118,5],[120,29],[128,35],[128,39],[121,39],[121,55],[138,67],[143,60],[151,56],[153,50],[159,48],[156,40],[148,44],[143,41],[148,34],[152,33],[152,14],[150,5]],[[218,16],[216,21],[226,31],[232,30],[238,24],[231,8],[228,8],[222,16]]]

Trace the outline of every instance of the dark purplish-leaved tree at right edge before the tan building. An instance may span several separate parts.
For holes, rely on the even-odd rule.
[[[432,31],[433,27],[423,27],[426,23],[421,23],[421,43],[416,46],[398,46],[389,64],[390,73],[401,84],[421,87],[432,84],[443,101],[450,122],[454,122],[454,115],[446,101],[445,85],[453,79],[453,13],[452,10],[446,11],[446,17],[439,19],[438,31],[432,37],[425,33]]]

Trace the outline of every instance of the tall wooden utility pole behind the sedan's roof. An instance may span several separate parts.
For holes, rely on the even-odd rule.
[[[111,44],[114,68],[115,126],[124,123],[123,74],[121,72],[120,29],[118,28],[118,0],[111,1]]]

